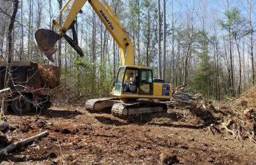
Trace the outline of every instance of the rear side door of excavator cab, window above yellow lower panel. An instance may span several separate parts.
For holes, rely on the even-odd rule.
[[[140,69],[139,94],[153,95],[153,74],[152,70]]]

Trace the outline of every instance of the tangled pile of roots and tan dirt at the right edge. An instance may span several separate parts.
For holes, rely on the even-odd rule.
[[[226,104],[227,115],[220,128],[226,130],[236,140],[249,139],[256,143],[256,89],[249,89],[244,94]]]

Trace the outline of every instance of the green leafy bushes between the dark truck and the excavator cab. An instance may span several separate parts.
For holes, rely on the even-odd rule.
[[[63,70],[61,82],[63,87],[68,87],[74,94],[74,98],[96,98],[109,96],[113,79],[109,75],[111,68],[103,68],[99,64],[89,62],[87,58],[76,59],[74,67]],[[93,68],[98,69],[94,75]]]

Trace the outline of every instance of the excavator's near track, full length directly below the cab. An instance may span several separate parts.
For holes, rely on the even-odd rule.
[[[120,102],[111,109],[111,113],[119,118],[162,112],[167,112],[167,104],[152,101]]]

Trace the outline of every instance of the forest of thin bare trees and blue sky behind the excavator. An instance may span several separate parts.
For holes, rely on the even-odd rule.
[[[34,43],[34,32],[52,28],[63,0],[0,0],[0,54],[8,58],[10,17],[18,4],[12,30],[12,60],[50,63]],[[255,1],[109,0],[129,32],[136,65],[153,69],[173,87],[187,84],[192,93],[217,100],[237,96],[255,84]],[[63,21],[65,14],[57,18]],[[108,96],[120,66],[120,52],[89,4],[78,14],[79,57],[62,40],[54,55],[61,83],[74,96]],[[68,32],[71,36],[71,34]],[[10,52],[10,51],[9,51]]]

